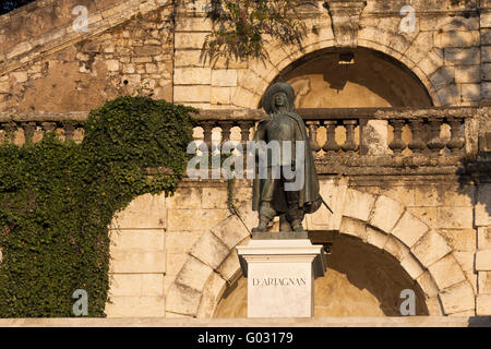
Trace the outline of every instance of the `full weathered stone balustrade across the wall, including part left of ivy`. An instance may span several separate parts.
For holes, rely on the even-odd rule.
[[[352,173],[356,168],[404,167],[447,168],[455,172],[463,159],[475,159],[477,140],[486,130],[479,119],[486,108],[354,108],[298,109],[306,121],[310,145],[321,172]],[[262,110],[202,110],[194,139],[208,146],[227,141],[252,140],[264,118]],[[17,145],[38,142],[45,132],[56,131],[64,140],[83,139],[87,112],[14,116],[0,113],[0,141]],[[343,168],[339,168],[343,167]],[[337,169],[336,169],[337,168]],[[364,168],[364,169],[362,169]]]

